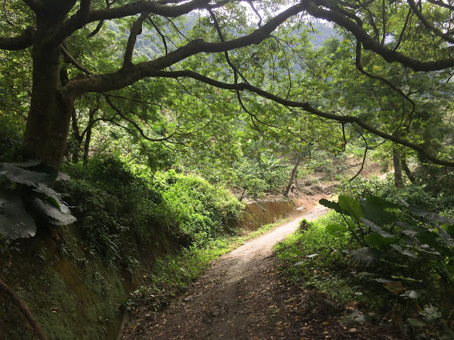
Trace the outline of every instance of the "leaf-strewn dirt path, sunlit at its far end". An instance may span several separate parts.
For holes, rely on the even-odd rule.
[[[394,339],[339,324],[331,302],[288,283],[275,268],[272,246],[294,232],[301,218],[325,212],[318,205],[221,257],[167,310],[140,315],[123,339]]]

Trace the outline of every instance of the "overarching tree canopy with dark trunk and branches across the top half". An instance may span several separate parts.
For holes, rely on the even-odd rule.
[[[439,128],[450,123],[453,7],[438,0],[4,1],[0,55],[9,72],[1,75],[0,113],[26,120],[24,147],[55,169],[70,129],[79,145],[99,121],[167,147],[194,135],[207,145],[236,115],[262,135],[306,142],[321,123],[337,122],[324,126],[340,148],[350,126],[366,150],[389,140],[453,166],[450,132]],[[319,19],[342,35],[314,50],[308,32]],[[211,132],[201,135],[206,127]],[[438,145],[430,141],[435,131],[444,139]]]

